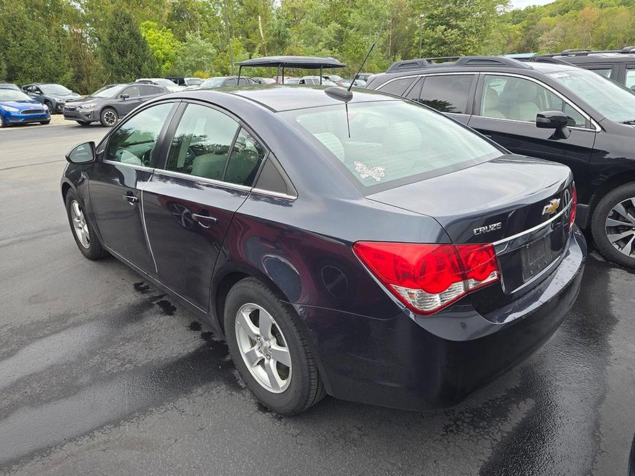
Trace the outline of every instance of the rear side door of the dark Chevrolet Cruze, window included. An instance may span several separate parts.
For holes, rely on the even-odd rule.
[[[143,189],[146,229],[159,281],[207,311],[222,242],[266,153],[226,112],[196,102],[181,107],[165,163]]]

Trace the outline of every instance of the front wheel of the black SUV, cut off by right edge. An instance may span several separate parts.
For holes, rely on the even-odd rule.
[[[635,268],[635,182],[604,195],[593,211],[591,233],[603,257]]]

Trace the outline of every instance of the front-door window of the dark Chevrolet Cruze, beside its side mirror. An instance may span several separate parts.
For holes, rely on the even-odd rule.
[[[108,140],[106,158],[131,165],[152,165],[152,151],[172,103],[158,104],[132,116]]]

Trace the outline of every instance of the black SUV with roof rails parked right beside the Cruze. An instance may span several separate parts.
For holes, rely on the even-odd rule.
[[[578,224],[605,258],[635,267],[635,95],[566,62],[531,59],[399,61],[367,88],[446,112],[516,154],[568,165]]]

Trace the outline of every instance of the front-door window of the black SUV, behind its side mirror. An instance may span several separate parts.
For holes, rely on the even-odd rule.
[[[481,116],[535,122],[543,110],[560,110],[569,118],[569,126],[587,127],[584,116],[540,84],[511,76],[485,76]]]

